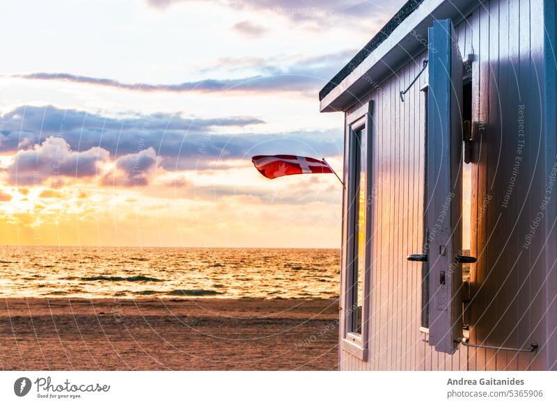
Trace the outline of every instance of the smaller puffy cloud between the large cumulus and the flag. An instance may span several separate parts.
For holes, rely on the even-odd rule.
[[[157,154],[153,148],[126,154],[116,160],[116,168],[102,178],[104,186],[146,186],[157,168]]]

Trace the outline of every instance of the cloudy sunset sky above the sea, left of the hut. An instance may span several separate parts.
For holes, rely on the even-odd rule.
[[[0,244],[339,248],[317,93],[404,1],[3,0]]]

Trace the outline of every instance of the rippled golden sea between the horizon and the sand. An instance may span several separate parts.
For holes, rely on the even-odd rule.
[[[0,247],[0,297],[336,299],[340,250]]]

